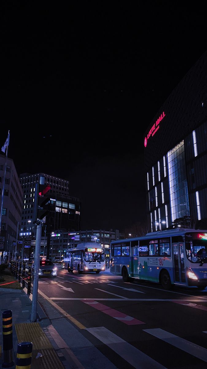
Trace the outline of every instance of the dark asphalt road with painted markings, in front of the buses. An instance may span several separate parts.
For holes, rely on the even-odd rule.
[[[117,368],[207,368],[207,288],[165,291],[124,283],[108,270],[79,275],[57,268],[57,277],[39,279],[39,290]]]

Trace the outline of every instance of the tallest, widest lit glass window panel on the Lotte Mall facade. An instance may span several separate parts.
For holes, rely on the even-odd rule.
[[[184,141],[168,151],[168,181],[172,222],[190,215]]]

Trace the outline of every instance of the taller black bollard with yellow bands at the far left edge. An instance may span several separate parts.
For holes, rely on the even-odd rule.
[[[3,363],[2,368],[11,368],[13,362],[13,333],[12,333],[12,311],[5,310],[2,313],[3,333]]]

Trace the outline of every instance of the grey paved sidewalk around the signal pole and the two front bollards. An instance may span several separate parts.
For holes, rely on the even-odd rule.
[[[38,295],[38,320],[30,322],[31,299],[23,290],[0,288],[0,346],[2,312],[12,310],[14,358],[17,344],[32,342],[31,369],[116,369],[116,367],[70,321],[44,297]],[[42,357],[36,359],[36,355]],[[91,361],[90,358],[93,358]],[[0,358],[0,367],[2,357]],[[12,369],[15,368],[15,364]]]

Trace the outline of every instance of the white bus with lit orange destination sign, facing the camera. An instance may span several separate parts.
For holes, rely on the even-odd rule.
[[[96,272],[97,274],[105,270],[105,251],[95,242],[83,242],[77,247],[66,250],[62,269],[68,272],[78,270],[82,272]]]

